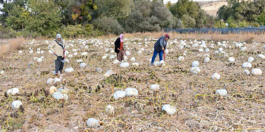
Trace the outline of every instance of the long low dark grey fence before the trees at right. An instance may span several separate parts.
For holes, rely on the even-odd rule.
[[[245,28],[222,28],[222,29],[163,29],[164,32],[177,32],[177,33],[208,33],[208,32],[220,32],[222,34],[228,33],[242,33],[242,32],[265,32],[265,26],[260,27],[245,27]]]

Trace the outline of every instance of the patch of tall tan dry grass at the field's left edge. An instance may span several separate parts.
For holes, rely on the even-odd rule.
[[[3,57],[3,55],[7,51],[13,51],[18,50],[21,47],[21,44],[25,41],[23,37],[21,38],[12,38],[9,40],[2,40],[2,44],[0,45],[0,58]]]

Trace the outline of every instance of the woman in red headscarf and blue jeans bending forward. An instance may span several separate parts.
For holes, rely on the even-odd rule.
[[[169,39],[169,35],[166,34],[164,36],[162,36],[161,38],[159,38],[155,44],[154,44],[154,54],[152,57],[152,61],[151,61],[151,66],[153,66],[154,64],[154,59],[156,58],[157,54],[159,54],[159,61],[163,60],[163,51],[166,49],[167,47],[167,40]]]

